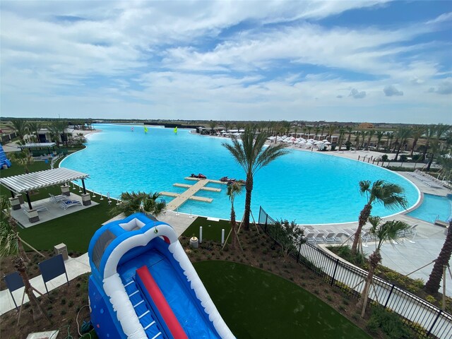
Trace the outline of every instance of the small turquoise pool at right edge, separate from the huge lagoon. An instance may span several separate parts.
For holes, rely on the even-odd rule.
[[[435,222],[436,219],[448,221],[452,218],[452,195],[424,194],[421,206],[412,210],[408,215],[427,222]]]

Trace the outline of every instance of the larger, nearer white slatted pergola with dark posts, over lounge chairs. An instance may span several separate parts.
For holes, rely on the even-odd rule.
[[[44,187],[66,184],[74,180],[81,179],[83,194],[86,194],[85,181],[89,174],[73,171],[67,168],[47,169],[45,171],[32,172],[28,174],[15,175],[13,177],[0,178],[0,184],[11,191],[11,196],[24,193],[27,196],[28,207],[32,209],[30,201],[30,191],[43,189]]]

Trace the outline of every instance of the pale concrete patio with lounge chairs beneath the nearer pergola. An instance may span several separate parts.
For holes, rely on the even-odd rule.
[[[86,208],[99,205],[99,203],[91,201],[91,204],[89,206],[83,206],[82,197],[78,196],[77,194],[73,194],[72,192],[70,196],[67,196],[67,198],[80,201],[80,205],[70,206],[69,208],[66,208],[66,210],[64,210],[63,208],[61,208],[60,203],[53,203],[50,200],[49,196],[49,198],[33,201],[33,208],[38,210],[37,213],[40,217],[40,220],[38,220],[37,222],[30,222],[28,220],[28,216],[24,213],[25,210],[28,210],[28,205],[26,202],[20,205],[21,208],[19,210],[11,210],[11,215],[19,222],[20,226],[22,226],[23,228],[28,228],[39,225],[42,222],[47,222],[49,220],[62,217],[63,215],[68,215],[78,212],[79,210],[85,210]],[[47,208],[47,210],[40,210],[44,208]]]

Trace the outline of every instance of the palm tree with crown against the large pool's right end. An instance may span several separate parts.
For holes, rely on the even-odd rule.
[[[382,203],[384,207],[395,209],[398,207],[406,208],[407,200],[403,194],[403,187],[384,180],[376,180],[371,184],[370,180],[362,180],[359,182],[359,193],[365,195],[367,203],[359,213],[358,228],[353,239],[352,254],[357,254],[357,246],[361,238],[361,230],[366,225],[367,219],[375,203]]]

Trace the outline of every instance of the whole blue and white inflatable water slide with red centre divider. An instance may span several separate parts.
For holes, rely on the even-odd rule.
[[[109,222],[95,232],[88,255],[99,338],[235,338],[165,222],[143,213]]]

